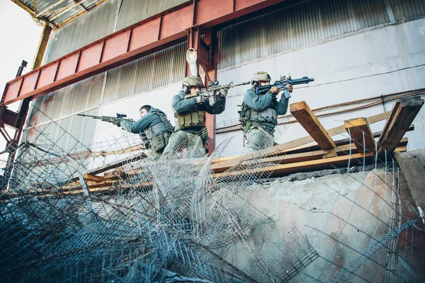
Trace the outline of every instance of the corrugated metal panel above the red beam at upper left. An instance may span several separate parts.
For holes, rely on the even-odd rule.
[[[185,2],[187,0],[109,0],[63,28],[53,30],[44,64]]]

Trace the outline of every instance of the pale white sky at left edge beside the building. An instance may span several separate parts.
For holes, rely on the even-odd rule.
[[[30,14],[10,0],[0,0],[0,85],[1,95],[8,81],[15,78],[22,60],[28,62],[23,74],[30,71],[35,52],[40,41],[42,26],[35,23]],[[19,103],[13,103],[8,109],[16,111]],[[8,130],[8,128],[6,127]],[[8,130],[10,135],[14,131]],[[0,135],[0,152],[6,147],[6,141]],[[0,156],[0,161],[4,160]],[[0,165],[1,167],[1,165]]]

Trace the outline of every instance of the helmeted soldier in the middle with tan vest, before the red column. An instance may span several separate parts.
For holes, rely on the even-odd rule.
[[[187,142],[188,149],[205,154],[205,141],[208,133],[205,127],[204,111],[210,114],[220,114],[225,110],[227,91],[217,91],[217,102],[214,106],[208,103],[205,96],[196,96],[185,99],[187,95],[198,93],[203,83],[198,76],[187,76],[183,80],[182,91],[173,97],[171,108],[176,117],[174,133],[171,134],[169,144],[164,149],[164,155],[171,154],[181,144]]]

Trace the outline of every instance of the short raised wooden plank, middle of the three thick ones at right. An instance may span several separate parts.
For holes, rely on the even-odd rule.
[[[374,152],[375,139],[368,121],[364,117],[344,121],[346,131],[353,139],[359,152]]]

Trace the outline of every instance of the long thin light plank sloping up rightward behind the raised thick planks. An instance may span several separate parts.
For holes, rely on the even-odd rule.
[[[380,113],[378,115],[370,116],[367,118],[367,120],[370,125],[370,124],[385,120],[389,116],[390,116],[390,111],[387,111],[387,112]],[[332,137],[336,134],[342,134],[346,132],[346,129],[344,126],[338,126],[338,127],[328,129],[327,132]],[[295,139],[293,141],[285,142],[284,144],[278,144],[277,146],[269,147],[268,149],[262,149],[261,151],[256,151],[254,154],[244,154],[241,156],[236,156],[235,158],[214,164],[212,166],[212,169],[215,169],[218,167],[227,167],[227,169],[229,169],[232,166],[235,166],[242,161],[246,161],[252,158],[262,158],[264,156],[276,156],[276,154],[279,154],[285,150],[293,149],[296,146],[302,146],[312,141],[314,141],[314,139],[310,136],[302,137],[300,139]]]

